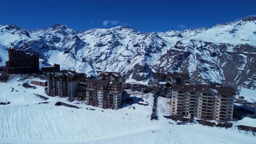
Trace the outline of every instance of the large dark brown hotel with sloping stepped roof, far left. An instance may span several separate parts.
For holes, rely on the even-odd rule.
[[[26,54],[14,49],[8,49],[9,61],[6,62],[8,73],[39,71],[39,54]]]

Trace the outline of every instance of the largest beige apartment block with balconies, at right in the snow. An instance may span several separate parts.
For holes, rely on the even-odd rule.
[[[231,87],[172,85],[171,113],[206,120],[232,121],[234,95]]]

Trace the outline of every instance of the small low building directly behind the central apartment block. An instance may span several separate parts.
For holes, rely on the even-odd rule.
[[[120,72],[103,72],[98,75],[98,79],[106,79],[125,83],[125,75],[121,75]]]

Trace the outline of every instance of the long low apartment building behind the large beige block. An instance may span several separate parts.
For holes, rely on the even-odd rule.
[[[153,85],[159,85],[159,82],[171,82],[171,84],[191,85],[188,73],[153,73]]]

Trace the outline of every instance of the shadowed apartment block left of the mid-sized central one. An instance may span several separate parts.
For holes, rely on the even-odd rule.
[[[73,97],[78,89],[77,75],[64,72],[49,72],[47,74],[47,95]]]

